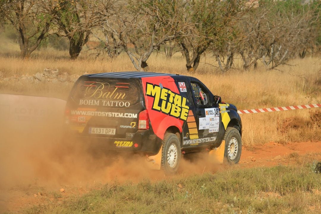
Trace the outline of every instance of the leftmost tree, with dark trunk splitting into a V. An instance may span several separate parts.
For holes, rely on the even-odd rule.
[[[58,6],[52,0],[4,0],[0,13],[14,26],[19,34],[21,58],[29,58],[39,47],[48,32]]]

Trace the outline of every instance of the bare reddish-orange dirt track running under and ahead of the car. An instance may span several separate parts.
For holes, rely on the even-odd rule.
[[[262,146],[251,148],[244,147],[241,160],[239,162],[239,167],[247,168],[275,165],[301,165],[306,162],[310,163],[312,160],[321,160],[321,142],[297,142],[287,143],[285,145],[269,142]],[[120,161],[116,165],[124,166],[124,164],[124,162]],[[183,167],[184,165],[187,167],[187,169],[183,170],[181,173],[186,175],[193,172],[203,173],[204,171],[215,171],[215,169],[220,167],[207,167],[205,169],[205,166],[203,167],[201,163],[196,163],[193,166],[190,166],[189,162],[183,162]],[[130,166],[129,168],[132,167],[133,166]],[[133,170],[129,170],[129,168],[125,169],[124,171],[116,170],[116,168],[110,167],[104,169],[113,174],[113,177],[101,172],[97,175],[103,177],[105,176],[103,181],[110,181],[113,178],[127,180],[129,177],[138,181],[140,178],[142,178],[141,176],[137,176],[137,174],[133,173]],[[126,170],[128,170],[127,173],[125,173]],[[145,169],[141,170],[145,173],[144,176],[150,177],[152,180],[164,178],[161,172],[147,172]],[[81,175],[80,172],[77,173],[78,175]],[[77,173],[74,174],[74,176],[78,176]],[[91,170],[89,170],[88,173],[91,173]],[[106,178],[108,179],[106,180]],[[69,182],[70,181],[71,180],[69,180]],[[2,194],[2,197],[0,198],[0,212],[19,212],[19,210],[32,207],[33,205],[47,204],[48,201],[53,201],[54,199],[64,201],[70,195],[82,195],[96,187],[95,181],[90,180],[84,180],[83,183],[78,181],[69,185],[69,182],[66,182],[64,179],[60,180],[61,183],[59,183],[59,179],[56,177],[55,182],[52,182],[51,178],[51,182],[45,183],[44,185],[39,184],[37,180],[34,180],[33,184],[29,181],[27,182],[28,185],[26,185],[26,183],[20,183],[12,186],[11,188],[7,189],[5,194]],[[97,185],[97,187],[98,186],[99,185]]]

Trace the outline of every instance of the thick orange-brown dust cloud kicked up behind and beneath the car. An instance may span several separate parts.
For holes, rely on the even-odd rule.
[[[53,129],[50,124],[13,126],[13,130],[1,133],[0,188],[37,184],[57,189],[61,185],[105,183],[114,179],[138,182],[143,178],[168,177],[162,171],[149,169],[143,156],[108,154],[91,150],[75,139],[62,140],[63,130]],[[204,173],[215,170],[216,166],[207,154],[193,154],[182,159],[178,173]]]

